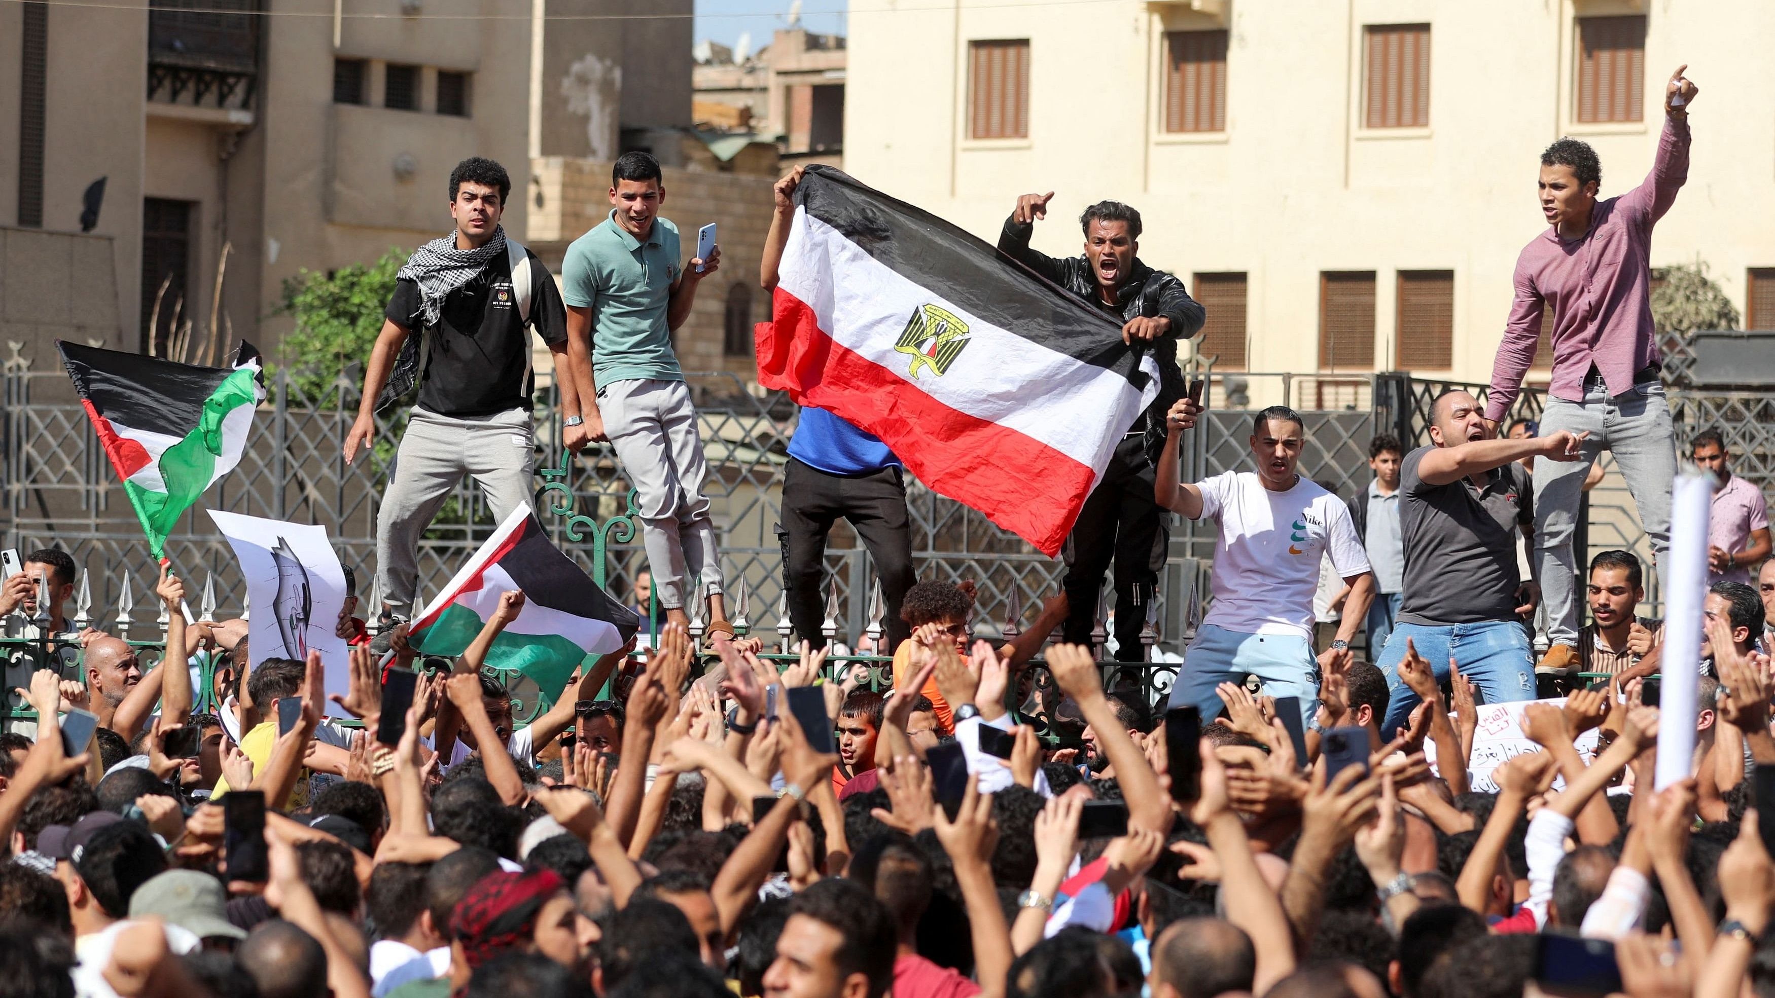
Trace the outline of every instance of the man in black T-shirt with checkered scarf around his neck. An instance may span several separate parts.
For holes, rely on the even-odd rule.
[[[382,335],[369,353],[346,464],[376,433],[376,411],[417,383],[389,487],[376,516],[376,574],[383,622],[398,624],[419,585],[419,534],[463,475],[472,475],[493,519],[531,502],[531,337],[548,344],[563,417],[579,417],[566,374],[566,308],[548,268],[506,239],[499,216],[511,193],[506,168],[479,156],[449,177],[456,230],[414,252],[401,268]],[[419,337],[410,333],[419,330]]]

